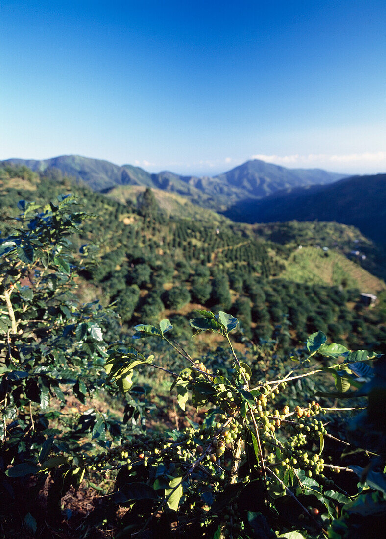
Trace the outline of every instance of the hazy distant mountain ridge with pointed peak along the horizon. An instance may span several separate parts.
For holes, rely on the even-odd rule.
[[[85,182],[95,191],[107,192],[119,185],[142,185],[175,192],[205,208],[225,210],[245,199],[258,199],[297,186],[328,184],[344,177],[320,169],[287,169],[260,160],[247,161],[223,174],[181,176],[170,171],[150,174],[133,165],[62,155],[43,161],[8,159],[3,163],[25,164],[37,172],[57,169]]]

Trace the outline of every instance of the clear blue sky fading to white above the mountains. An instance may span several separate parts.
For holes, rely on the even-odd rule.
[[[386,171],[384,0],[2,0],[0,19],[0,158]]]

